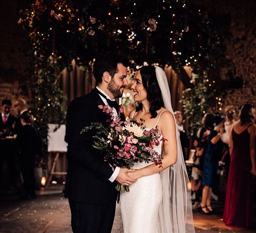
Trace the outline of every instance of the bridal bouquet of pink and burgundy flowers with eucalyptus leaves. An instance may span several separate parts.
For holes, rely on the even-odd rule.
[[[157,129],[146,130],[143,126],[143,119],[137,122],[135,119],[126,117],[126,121],[121,121],[120,116],[114,119],[113,109],[108,105],[98,106],[103,112],[111,116],[110,125],[105,128],[99,122],[92,122],[90,126],[82,129],[81,133],[95,128],[97,135],[94,147],[104,153],[104,160],[110,166],[127,167],[130,169],[136,162],[154,162],[155,165],[162,164],[161,154],[158,154],[153,145],[159,145],[160,139]],[[129,187],[118,183],[116,189],[120,192],[129,191]]]

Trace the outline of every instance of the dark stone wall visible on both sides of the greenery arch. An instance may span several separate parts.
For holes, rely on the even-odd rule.
[[[16,98],[18,80],[26,76],[29,38],[17,24],[19,9],[30,0],[0,0],[0,101]],[[224,106],[256,105],[256,20],[255,0],[193,0],[205,9],[220,33],[231,63],[222,70],[227,83]]]

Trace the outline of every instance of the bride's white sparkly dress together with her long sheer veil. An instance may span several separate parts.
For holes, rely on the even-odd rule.
[[[166,74],[160,67],[155,66],[155,68],[157,82],[164,102],[163,107],[175,119]],[[141,177],[129,186],[130,192],[123,192],[120,195],[124,233],[195,233],[191,190],[189,188],[190,181],[183,159],[176,123],[175,127],[176,163],[160,173]],[[154,145],[154,149],[161,153],[163,157],[165,156],[162,143],[158,146]],[[148,163],[136,163],[132,168],[139,169],[148,165]]]

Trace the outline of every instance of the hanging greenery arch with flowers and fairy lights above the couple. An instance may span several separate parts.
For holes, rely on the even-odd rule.
[[[207,14],[185,0],[37,0],[21,15],[18,23],[29,33],[34,71],[26,86],[34,97],[33,113],[40,129],[52,119],[64,121],[64,97],[58,88],[58,77],[65,67],[71,71],[73,59],[86,67],[96,54],[112,50],[133,60],[133,68],[144,62],[167,64],[179,74],[184,66],[190,66],[198,75],[193,83],[195,90],[206,78],[209,82],[218,78],[218,35]],[[209,92],[213,88],[217,89],[208,86]],[[207,99],[208,94],[207,91],[199,96],[192,89],[186,90],[185,113],[201,117],[205,103],[215,106],[215,98]],[[48,99],[55,100],[55,104],[49,101],[48,106]],[[198,101],[200,108],[192,112]]]

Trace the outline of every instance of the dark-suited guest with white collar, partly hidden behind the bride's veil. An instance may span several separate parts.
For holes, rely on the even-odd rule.
[[[174,112],[177,127],[180,133],[180,143],[181,143],[181,149],[184,157],[184,161],[187,159],[185,147],[189,147],[189,138],[186,129],[183,127],[183,119],[182,119],[182,113],[180,111]]]

